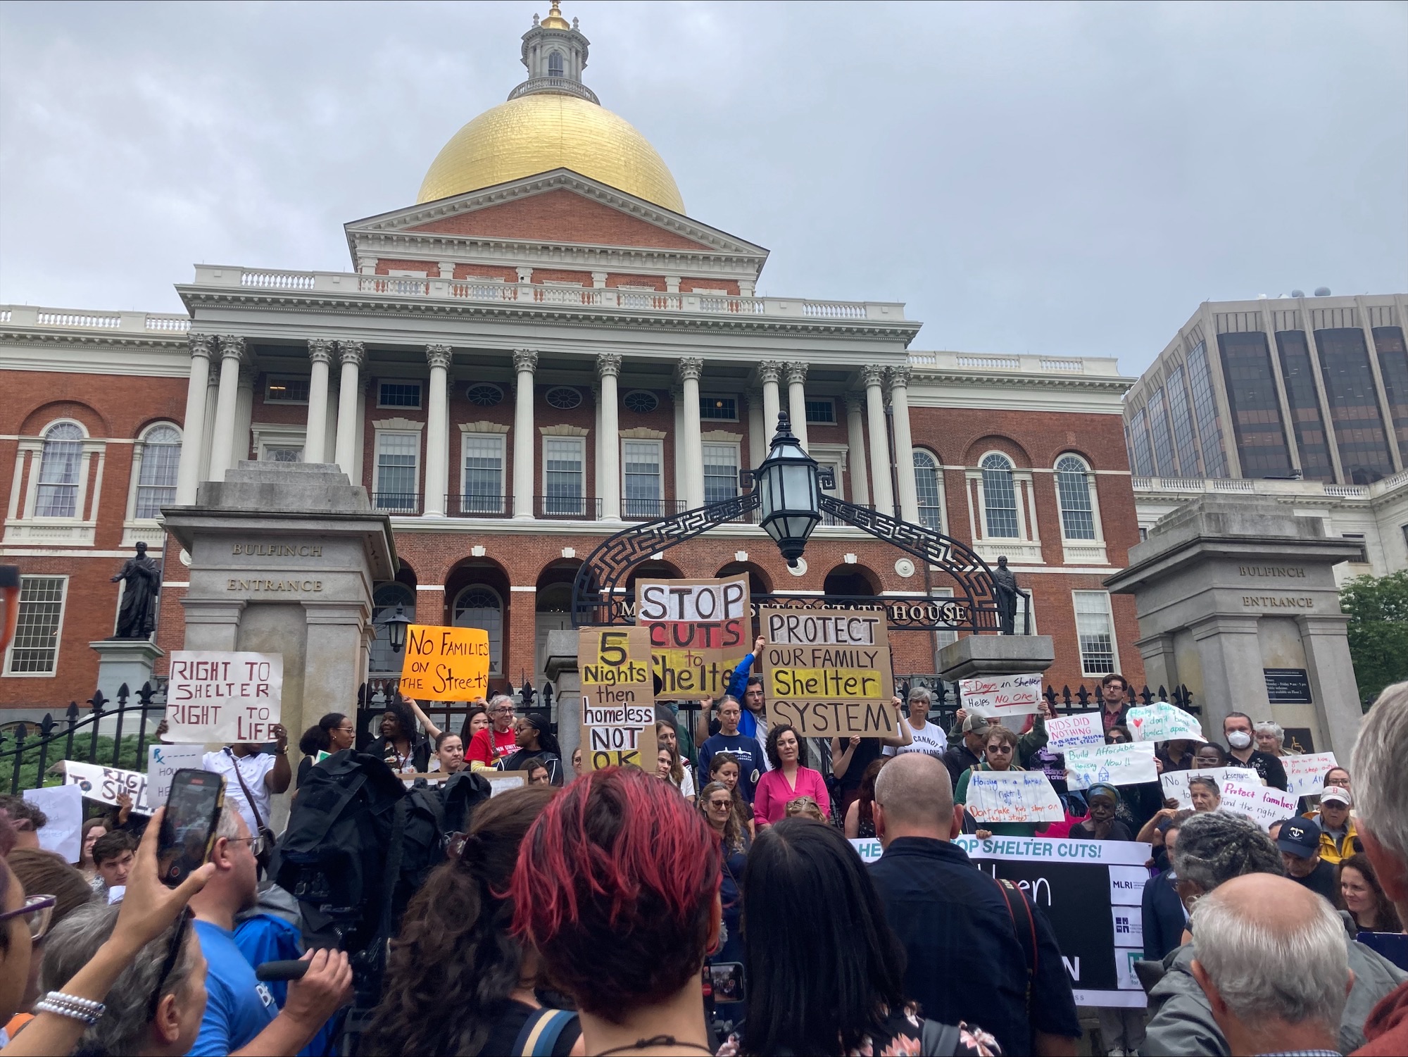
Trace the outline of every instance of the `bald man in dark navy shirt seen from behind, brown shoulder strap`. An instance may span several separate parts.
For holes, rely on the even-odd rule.
[[[908,954],[905,996],[941,1023],[981,1025],[1004,1053],[1073,1056],[1081,1029],[1056,937],[1028,901],[1029,954],[998,884],[952,843],[963,808],[943,764],[922,753],[886,764],[874,823],[884,854],[870,877]]]

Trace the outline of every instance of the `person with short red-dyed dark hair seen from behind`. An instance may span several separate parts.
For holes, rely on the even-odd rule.
[[[514,932],[572,995],[591,1054],[712,1053],[700,974],[719,934],[719,840],[679,791],[608,767],[528,830]]]

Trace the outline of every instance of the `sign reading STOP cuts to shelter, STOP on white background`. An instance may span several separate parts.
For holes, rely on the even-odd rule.
[[[718,698],[752,645],[748,576],[636,581],[635,623],[650,633],[656,699]]]

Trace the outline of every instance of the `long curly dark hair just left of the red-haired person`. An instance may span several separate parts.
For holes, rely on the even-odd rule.
[[[522,970],[507,898],[518,846],[556,792],[511,789],[476,809],[459,858],[438,865],[406,908],[363,1053],[483,1049]]]

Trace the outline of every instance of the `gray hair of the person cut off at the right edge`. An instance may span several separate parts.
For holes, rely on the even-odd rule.
[[[1390,855],[1408,864],[1408,682],[1385,686],[1354,743],[1354,817]]]

